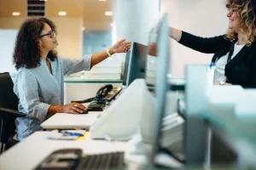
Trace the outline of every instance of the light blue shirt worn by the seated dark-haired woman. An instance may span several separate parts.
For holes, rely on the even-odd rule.
[[[50,105],[64,105],[64,75],[79,71],[89,71],[91,55],[81,59],[57,57],[48,59],[52,74],[44,59],[37,68],[20,68],[14,81],[14,92],[20,99],[18,109],[26,117],[16,119],[17,139],[23,140],[45,121]]]

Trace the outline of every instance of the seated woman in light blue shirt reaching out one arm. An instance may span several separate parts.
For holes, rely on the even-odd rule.
[[[18,109],[26,117],[16,119],[17,139],[42,130],[40,124],[55,113],[79,114],[86,110],[81,104],[64,105],[64,75],[89,71],[91,67],[115,53],[126,53],[131,42],[121,40],[101,53],[86,55],[82,59],[57,56],[58,45],[55,24],[46,18],[26,20],[20,27],[14,53],[15,94]]]

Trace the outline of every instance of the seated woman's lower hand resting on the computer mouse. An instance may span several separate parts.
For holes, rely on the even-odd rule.
[[[67,105],[61,105],[60,110],[61,111],[57,111],[57,112],[79,114],[79,113],[83,113],[83,111],[86,111],[87,108],[82,104],[72,103]]]

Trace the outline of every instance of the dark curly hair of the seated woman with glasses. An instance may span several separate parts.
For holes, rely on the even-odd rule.
[[[39,37],[44,30],[44,23],[48,24],[52,31],[56,31],[54,22],[46,18],[30,18],[21,25],[13,55],[13,62],[17,70],[22,67],[32,69],[40,65]],[[49,51],[47,58],[55,60],[56,57],[57,52],[55,50]]]

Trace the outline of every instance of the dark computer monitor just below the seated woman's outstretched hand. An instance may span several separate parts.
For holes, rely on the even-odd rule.
[[[148,46],[138,42],[132,42],[131,49],[125,58],[123,85],[129,86],[137,78],[145,78]]]

